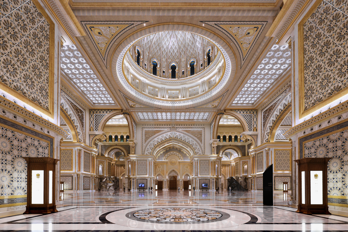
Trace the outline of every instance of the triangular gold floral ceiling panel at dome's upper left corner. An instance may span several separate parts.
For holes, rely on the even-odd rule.
[[[113,43],[129,29],[148,21],[126,21],[126,22],[84,22],[82,25],[92,40],[94,47],[97,49],[100,58],[106,66],[106,59],[108,57],[110,47]]]

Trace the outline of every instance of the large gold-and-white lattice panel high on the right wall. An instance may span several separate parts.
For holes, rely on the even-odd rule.
[[[322,1],[303,25],[303,111],[347,88],[347,1]],[[301,49],[302,49],[301,48]],[[300,54],[299,54],[300,55]],[[301,62],[301,60],[300,60]],[[301,96],[301,95],[300,95]]]

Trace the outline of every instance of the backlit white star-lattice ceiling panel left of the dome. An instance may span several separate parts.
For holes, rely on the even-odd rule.
[[[61,49],[61,70],[94,104],[115,104],[108,91],[75,45],[64,45]]]

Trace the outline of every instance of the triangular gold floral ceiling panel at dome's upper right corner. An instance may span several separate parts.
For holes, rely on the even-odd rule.
[[[201,21],[203,22],[203,21]],[[240,68],[255,45],[267,22],[203,22],[226,34],[236,45],[240,55]]]

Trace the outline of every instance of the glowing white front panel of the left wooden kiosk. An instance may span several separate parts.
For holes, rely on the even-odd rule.
[[[31,171],[31,203],[44,203],[44,170]]]

